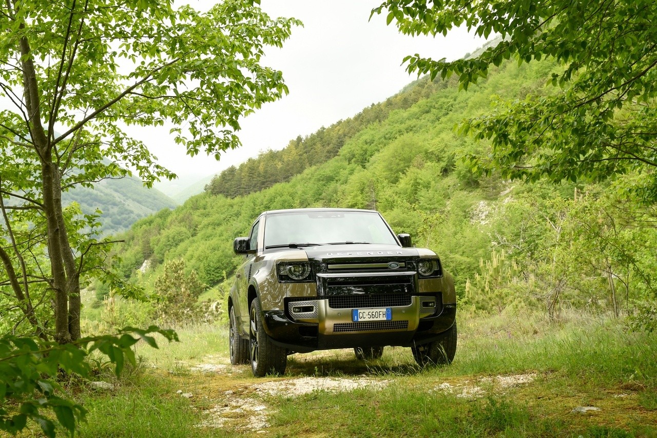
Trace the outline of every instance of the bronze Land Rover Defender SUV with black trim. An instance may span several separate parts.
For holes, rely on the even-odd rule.
[[[453,278],[376,211],[266,211],[233,249],[244,262],[228,298],[231,363],[254,376],[284,374],[288,354],[315,350],[373,360],[410,347],[420,366],[454,358]]]

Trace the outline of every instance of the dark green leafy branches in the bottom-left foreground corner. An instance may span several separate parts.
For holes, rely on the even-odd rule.
[[[30,337],[0,337],[0,430],[15,435],[32,420],[47,437],[55,437],[58,427],[73,436],[87,410],[62,387],[60,376],[89,379],[92,368],[87,358],[96,351],[114,364],[118,376],[126,361],[136,364],[132,347],[137,341],[142,339],[157,348],[154,333],[177,341],[174,331],[154,326],[125,328],[116,335],[83,337],[65,345]]]

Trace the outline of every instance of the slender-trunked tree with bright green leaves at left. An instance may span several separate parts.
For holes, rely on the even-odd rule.
[[[254,3],[205,13],[159,0],[0,6],[0,287],[39,336],[80,337],[80,283],[107,248],[81,232],[95,215],[63,208],[62,191],[126,168],[149,186],[173,177],[127,127],[168,124],[190,155],[218,157],[239,145],[240,116],[287,92],[260,60],[300,22]],[[51,299],[54,315],[39,314],[35,303]]]

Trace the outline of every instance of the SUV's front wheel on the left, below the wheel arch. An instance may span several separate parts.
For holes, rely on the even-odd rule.
[[[271,339],[265,333],[260,311],[260,300],[256,297],[249,306],[251,370],[256,377],[263,377],[267,374],[285,374],[287,350],[271,342]]]

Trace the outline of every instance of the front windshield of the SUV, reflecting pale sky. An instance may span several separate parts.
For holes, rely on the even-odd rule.
[[[265,248],[290,243],[399,245],[376,212],[307,211],[268,214]]]

